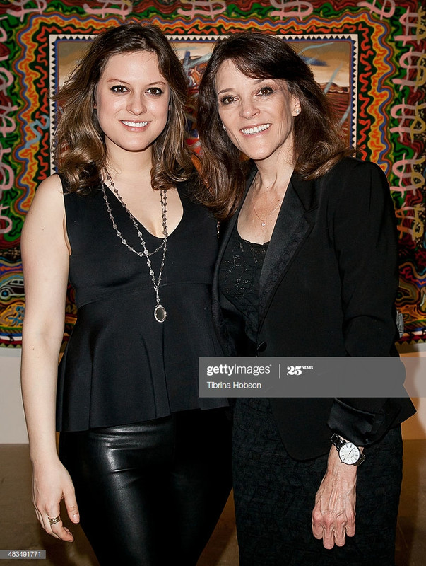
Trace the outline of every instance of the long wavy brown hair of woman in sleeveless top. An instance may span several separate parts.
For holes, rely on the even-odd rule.
[[[102,71],[112,55],[137,51],[157,55],[160,73],[170,86],[167,125],[153,143],[152,186],[169,188],[189,178],[193,166],[184,135],[187,79],[182,65],[160,28],[132,22],[97,35],[53,97],[59,105],[54,156],[71,192],[87,195],[97,187],[107,160],[104,134],[94,108],[95,89]]]

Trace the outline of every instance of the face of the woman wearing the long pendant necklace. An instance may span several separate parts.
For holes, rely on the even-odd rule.
[[[107,151],[150,151],[167,122],[170,88],[154,52],[112,55],[102,71],[95,108]]]

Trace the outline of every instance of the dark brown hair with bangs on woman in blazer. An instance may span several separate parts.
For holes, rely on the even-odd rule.
[[[284,40],[264,33],[234,33],[218,40],[199,87],[197,129],[203,149],[199,200],[215,209],[219,219],[233,214],[244,195],[252,161],[244,159],[227,137],[218,112],[215,79],[220,65],[231,60],[254,79],[281,79],[300,100],[302,112],[293,120],[294,168],[304,179],[319,178],[347,154],[329,100],[314,75]]]

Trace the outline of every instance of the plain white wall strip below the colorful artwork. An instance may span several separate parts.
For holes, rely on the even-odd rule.
[[[403,345],[402,356],[426,357],[426,344]],[[424,369],[425,364],[422,364]],[[20,397],[20,348],[0,347],[0,444],[28,442]],[[426,374],[425,374],[426,379]],[[403,423],[403,437],[426,439],[426,398],[414,399],[418,414]]]

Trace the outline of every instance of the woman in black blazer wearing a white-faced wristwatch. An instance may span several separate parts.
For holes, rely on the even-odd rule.
[[[389,185],[350,157],[309,67],[276,37],[219,41],[198,129],[200,198],[227,220],[214,285],[227,353],[396,356]],[[408,398],[238,399],[241,565],[392,565],[412,414]]]

